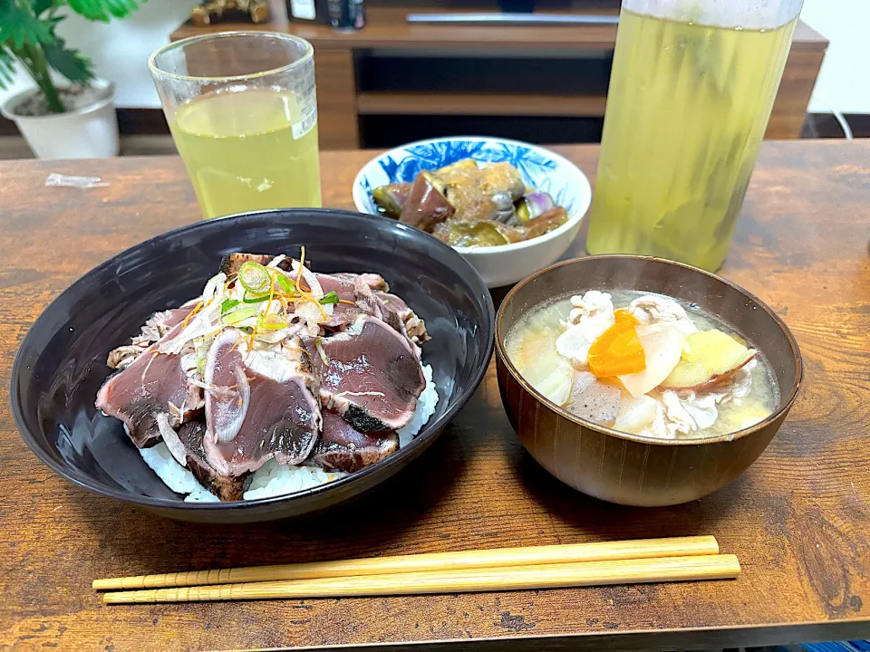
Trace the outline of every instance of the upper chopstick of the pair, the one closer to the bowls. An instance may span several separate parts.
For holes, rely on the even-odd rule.
[[[161,587],[232,584],[255,581],[313,580],[316,578],[385,575],[439,570],[465,570],[531,564],[579,561],[615,561],[654,557],[715,555],[719,543],[712,536],[639,539],[621,542],[590,542],[565,545],[497,548],[462,552],[430,552],[393,557],[372,557],[344,561],[314,561],[280,566],[254,566],[221,570],[139,575],[93,580],[95,590],[151,589]]]

